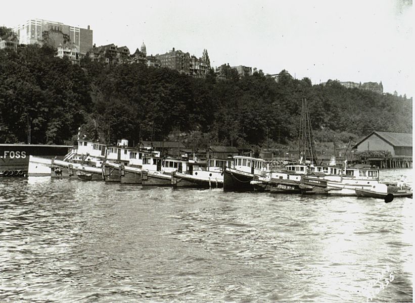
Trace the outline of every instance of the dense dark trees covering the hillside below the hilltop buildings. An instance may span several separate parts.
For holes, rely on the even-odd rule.
[[[412,98],[312,85],[285,71],[239,77],[227,66],[205,79],[141,64],[81,67],[49,47],[0,51],[0,142],[64,143],[82,132],[107,143],[186,134],[192,145],[272,146],[298,136],[307,98],[316,139],[348,142],[372,130],[411,132]],[[71,142],[72,143],[72,142]]]

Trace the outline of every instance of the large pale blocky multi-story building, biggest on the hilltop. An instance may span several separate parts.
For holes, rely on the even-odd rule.
[[[81,55],[92,48],[93,31],[42,19],[31,19],[13,29],[20,44],[48,44],[54,48],[73,43]]]

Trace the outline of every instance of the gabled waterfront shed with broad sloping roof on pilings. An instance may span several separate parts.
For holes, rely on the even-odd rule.
[[[412,156],[412,134],[373,131],[353,146],[357,151],[389,151],[391,156]]]

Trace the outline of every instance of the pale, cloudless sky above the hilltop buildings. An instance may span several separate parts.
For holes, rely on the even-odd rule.
[[[313,84],[382,81],[384,92],[413,96],[411,0],[24,1],[0,16],[7,27],[35,18],[90,25],[97,46],[126,45],[131,53],[143,42],[148,55],[174,47],[202,57],[206,48],[213,67],[285,69]]]

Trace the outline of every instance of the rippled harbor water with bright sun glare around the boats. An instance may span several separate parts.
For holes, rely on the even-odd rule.
[[[412,301],[412,199],[0,181],[2,302]]]

